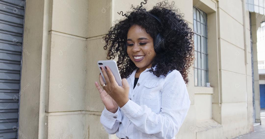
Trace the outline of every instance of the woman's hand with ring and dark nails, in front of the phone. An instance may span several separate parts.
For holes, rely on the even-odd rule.
[[[118,104],[121,108],[129,101],[129,83],[125,78],[122,79],[122,86],[119,86],[115,80],[111,69],[108,66],[105,66],[106,71],[101,67],[101,71],[105,78],[107,85],[103,88]],[[103,86],[105,82],[103,81],[102,75],[99,77],[100,85]]]

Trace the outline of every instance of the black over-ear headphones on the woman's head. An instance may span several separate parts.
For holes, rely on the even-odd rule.
[[[156,18],[157,21],[162,25],[161,20],[157,16],[155,16],[152,13],[149,13],[149,12],[148,12],[148,14],[150,16]],[[165,38],[164,38],[164,36],[161,33],[157,33],[154,36],[154,39],[153,40],[154,40],[154,51],[157,54],[163,52],[165,50],[165,46],[164,46],[164,40],[165,40]],[[126,51],[126,53],[127,53],[127,45],[128,45],[127,44],[127,41],[125,40],[125,44],[123,44],[123,47],[124,47],[124,50]]]

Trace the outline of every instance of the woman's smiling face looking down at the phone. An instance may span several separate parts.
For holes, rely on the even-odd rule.
[[[153,38],[138,25],[130,27],[127,34],[127,53],[138,68],[150,68],[156,52]]]

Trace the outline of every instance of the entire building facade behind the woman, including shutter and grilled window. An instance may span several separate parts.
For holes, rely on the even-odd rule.
[[[234,138],[260,122],[265,2],[257,1],[174,0],[195,32],[196,57],[191,106],[176,138]],[[123,18],[117,12],[140,2],[0,0],[0,138],[117,138],[100,123],[96,62],[106,59],[102,37]]]

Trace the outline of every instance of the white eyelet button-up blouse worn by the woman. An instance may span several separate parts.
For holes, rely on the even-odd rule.
[[[107,133],[116,133],[118,138],[175,139],[191,103],[181,73],[173,70],[163,78],[148,68],[140,74],[133,89],[137,69],[126,78],[130,85],[129,101],[118,107],[116,113],[105,107],[100,122]]]

